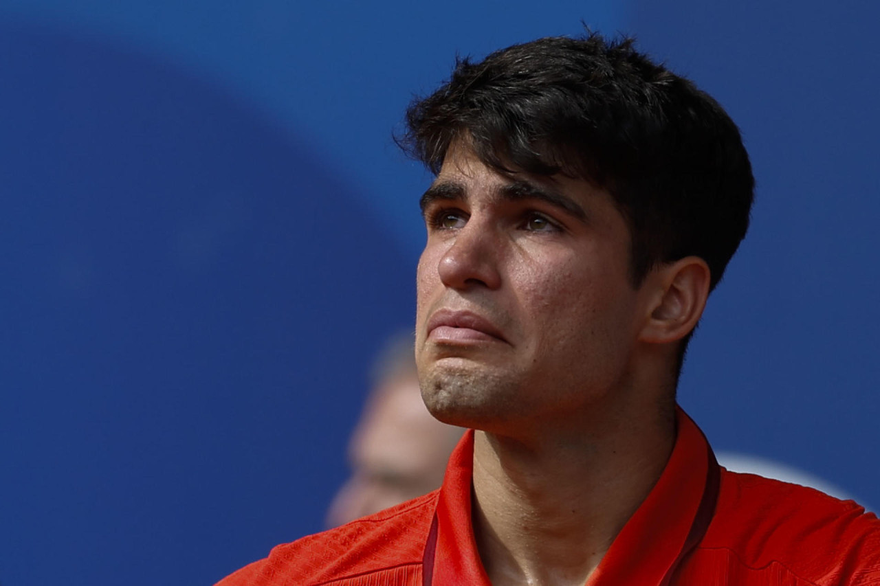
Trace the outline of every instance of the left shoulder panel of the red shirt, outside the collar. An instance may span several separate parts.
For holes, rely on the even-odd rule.
[[[268,558],[217,586],[318,586],[356,575],[420,566],[437,491],[341,527],[276,546]]]

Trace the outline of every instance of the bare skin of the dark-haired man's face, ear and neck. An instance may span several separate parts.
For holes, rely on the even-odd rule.
[[[663,472],[695,257],[629,274],[605,191],[501,173],[466,140],[422,198],[415,354],[439,420],[477,429],[473,525],[495,586],[583,584]]]

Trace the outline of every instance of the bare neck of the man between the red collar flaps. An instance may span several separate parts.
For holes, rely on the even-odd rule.
[[[660,478],[674,415],[601,411],[570,433],[476,433],[473,524],[495,586],[583,586]]]

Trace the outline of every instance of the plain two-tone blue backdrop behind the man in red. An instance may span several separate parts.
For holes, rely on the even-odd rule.
[[[319,531],[412,327],[392,131],[457,53],[582,20],[752,155],[682,405],[880,503],[880,4],[0,0],[0,584],[209,584]]]

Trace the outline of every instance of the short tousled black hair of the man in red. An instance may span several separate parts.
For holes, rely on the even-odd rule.
[[[748,228],[754,179],[736,124],[632,39],[587,33],[458,59],[448,82],[409,106],[398,143],[436,173],[465,136],[498,171],[605,188],[630,226],[634,286],[693,254],[714,289]]]

